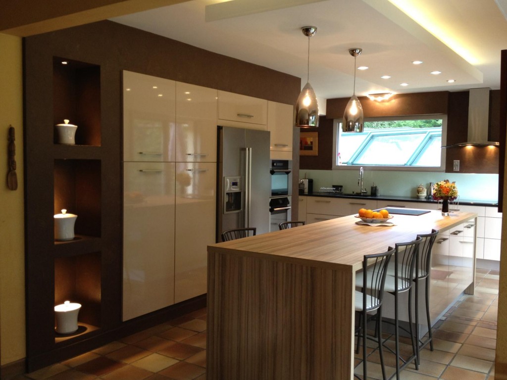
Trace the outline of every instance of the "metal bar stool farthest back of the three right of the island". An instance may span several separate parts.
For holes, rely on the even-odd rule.
[[[419,362],[419,352],[422,350],[428,343],[430,350],[433,351],[433,335],[431,333],[431,319],[429,317],[429,273],[431,271],[431,249],[433,248],[433,243],[435,242],[437,235],[439,232],[437,230],[431,230],[429,234],[420,234],[419,236],[422,241],[419,248],[419,268],[416,269],[417,276],[416,281],[424,280],[425,281],[425,304],[426,304],[426,321],[428,323],[428,338],[425,341],[422,341],[422,338],[419,338],[419,297],[418,291],[416,289],[415,296],[415,315],[416,315],[416,336],[417,336],[417,361]],[[416,284],[417,285],[417,284]],[[417,287],[417,286],[416,286]]]

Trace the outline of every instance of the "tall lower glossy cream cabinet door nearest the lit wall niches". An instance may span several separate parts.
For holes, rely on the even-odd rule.
[[[123,320],[174,303],[174,163],[126,162]]]

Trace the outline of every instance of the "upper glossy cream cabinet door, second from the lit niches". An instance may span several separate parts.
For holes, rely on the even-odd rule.
[[[176,161],[216,162],[218,91],[176,83]]]

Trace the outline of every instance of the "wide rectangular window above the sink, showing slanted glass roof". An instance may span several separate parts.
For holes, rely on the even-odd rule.
[[[340,121],[336,123],[334,167],[443,170],[446,120],[444,115],[368,119],[361,133],[341,133]]]

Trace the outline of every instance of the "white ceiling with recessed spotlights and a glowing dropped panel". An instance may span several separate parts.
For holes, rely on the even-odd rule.
[[[302,87],[308,37],[301,27],[314,25],[310,83],[319,99],[352,94],[349,48],[362,48],[357,66],[369,67],[357,70],[358,96],[499,88],[500,50],[507,49],[507,0],[223,1],[191,0],[112,20],[295,75]],[[412,7],[417,22],[394,4]],[[423,63],[416,66],[414,60]],[[433,70],[442,74],[430,74]],[[385,74],[391,78],[381,79]],[[450,85],[448,79],[456,82]]]

